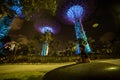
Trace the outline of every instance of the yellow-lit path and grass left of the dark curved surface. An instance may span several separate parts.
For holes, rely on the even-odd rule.
[[[4,64],[0,65],[0,80],[42,80],[46,72],[74,63]]]

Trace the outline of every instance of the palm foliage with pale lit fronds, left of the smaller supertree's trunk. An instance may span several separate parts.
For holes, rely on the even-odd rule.
[[[11,57],[11,56],[16,56],[16,55],[27,55],[29,54],[34,54],[35,53],[35,45],[32,40],[30,40],[27,44],[24,44],[23,42],[16,42],[16,41],[11,41],[7,42],[4,47],[3,51],[6,56]]]

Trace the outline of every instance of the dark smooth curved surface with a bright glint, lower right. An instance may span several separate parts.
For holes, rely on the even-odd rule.
[[[120,59],[60,67],[48,72],[43,80],[120,80]]]

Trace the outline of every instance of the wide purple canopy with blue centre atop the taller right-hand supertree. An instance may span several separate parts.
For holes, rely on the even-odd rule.
[[[62,23],[74,25],[79,18],[85,21],[95,8],[95,0],[67,0],[58,5],[56,12]]]

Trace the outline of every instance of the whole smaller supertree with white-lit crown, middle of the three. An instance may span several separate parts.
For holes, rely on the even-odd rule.
[[[59,25],[52,20],[40,20],[35,23],[35,28],[43,34],[41,56],[47,56],[49,51],[49,43],[53,40],[52,35],[57,34],[60,30]]]

